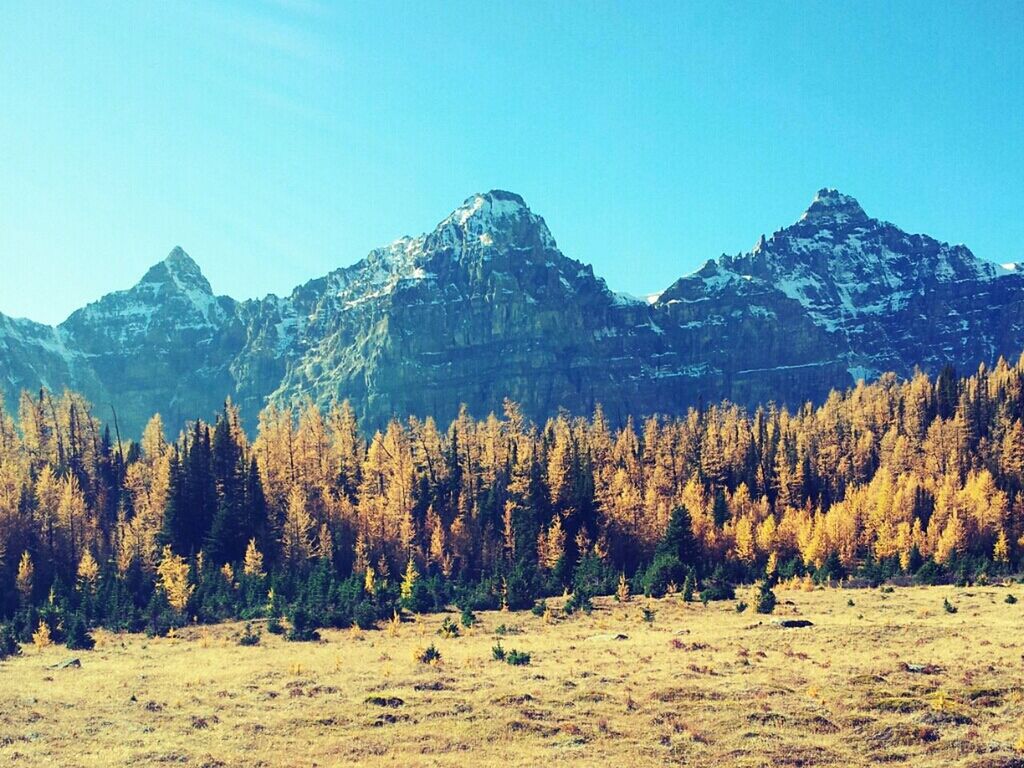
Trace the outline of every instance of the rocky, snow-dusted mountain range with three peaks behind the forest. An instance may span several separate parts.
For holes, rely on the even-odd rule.
[[[56,328],[0,315],[0,387],[83,391],[137,433],[160,412],[209,417],[230,395],[348,398],[368,426],[446,420],[505,397],[612,419],[821,399],[883,371],[972,369],[1024,348],[1024,275],[872,219],[822,189],[792,226],[709,260],[652,302],[613,293],[564,256],[517,195],[467,200],[280,298],[213,294],[174,249],[134,288]]]

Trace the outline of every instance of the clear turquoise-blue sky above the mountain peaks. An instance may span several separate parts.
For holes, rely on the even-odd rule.
[[[0,311],[58,322],[175,245],[287,293],[476,191],[616,290],[837,186],[1024,259],[1024,3],[39,2],[0,23]]]

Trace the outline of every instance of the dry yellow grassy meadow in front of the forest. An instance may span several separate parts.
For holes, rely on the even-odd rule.
[[[1024,766],[1013,593],[780,590],[771,616],[599,600],[591,615],[480,613],[458,638],[430,615],[254,647],[241,625],[100,632],[93,651],[0,664],[0,764]],[[778,626],[792,616],[814,626]],[[531,664],[494,660],[499,639]],[[415,660],[430,643],[441,660]]]

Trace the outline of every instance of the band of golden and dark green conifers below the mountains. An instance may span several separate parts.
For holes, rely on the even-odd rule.
[[[120,440],[72,392],[0,409],[0,651],[89,629],[567,608],[632,589],[705,599],[765,579],[978,581],[1024,546],[1024,358],[885,375],[818,406],[684,418],[394,420],[227,402]],[[283,631],[283,629],[282,629]]]

